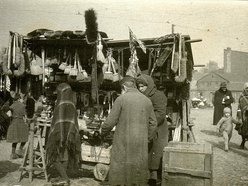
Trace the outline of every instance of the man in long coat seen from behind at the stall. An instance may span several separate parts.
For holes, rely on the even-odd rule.
[[[104,136],[116,126],[110,156],[110,185],[146,185],[148,179],[148,141],[157,121],[151,101],[140,93],[135,80],[121,82],[119,96],[102,126]]]

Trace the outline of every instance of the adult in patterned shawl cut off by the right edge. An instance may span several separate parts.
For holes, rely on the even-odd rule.
[[[244,90],[239,97],[237,119],[242,122],[239,134],[242,136],[240,148],[245,148],[245,141],[248,139],[248,82],[244,84]]]

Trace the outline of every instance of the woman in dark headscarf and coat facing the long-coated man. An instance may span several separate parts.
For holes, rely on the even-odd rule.
[[[167,98],[157,90],[151,76],[142,74],[137,78],[137,87],[151,101],[157,119],[157,134],[152,144],[149,144],[150,185],[156,185],[158,171],[161,171],[163,149],[168,144],[168,125],[166,121]]]

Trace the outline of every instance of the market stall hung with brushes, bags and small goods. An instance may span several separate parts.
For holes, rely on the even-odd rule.
[[[113,133],[102,141],[99,129],[120,94],[119,80],[126,75],[149,74],[168,98],[170,140],[194,141],[189,113],[194,66],[191,43],[200,40],[179,33],[139,40],[131,29],[129,33],[129,40],[111,40],[101,31],[89,37],[87,29],[37,29],[26,36],[10,32],[9,46],[1,53],[1,91],[31,92],[36,99],[45,97],[46,106],[37,121],[46,138],[56,87],[69,83],[77,99],[82,159],[109,164]]]

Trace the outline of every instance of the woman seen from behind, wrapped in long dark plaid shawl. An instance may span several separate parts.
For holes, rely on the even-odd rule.
[[[66,171],[76,172],[80,157],[81,143],[74,97],[70,85],[58,85],[57,102],[46,145],[47,166],[56,168],[62,179],[55,182],[64,185],[70,182]]]

